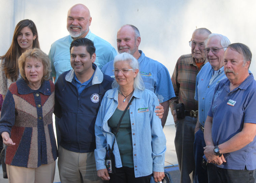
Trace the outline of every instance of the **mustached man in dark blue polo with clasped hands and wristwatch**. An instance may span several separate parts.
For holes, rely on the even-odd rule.
[[[208,163],[216,164],[216,182],[255,183],[256,81],[248,72],[251,59],[242,43],[229,45],[224,54],[227,79],[216,86],[204,126],[204,154]]]

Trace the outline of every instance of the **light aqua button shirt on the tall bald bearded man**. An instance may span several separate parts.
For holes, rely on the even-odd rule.
[[[99,68],[102,68],[103,65],[113,60],[117,55],[117,51],[113,46],[111,46],[110,43],[91,33],[91,31],[88,32],[85,38],[90,39],[94,43],[94,46],[96,48],[96,60],[94,63]],[[56,77],[55,82],[62,73],[72,69],[70,65],[69,51],[72,41],[73,38],[68,35],[55,41],[51,46],[49,58],[52,64],[52,75],[53,77]]]

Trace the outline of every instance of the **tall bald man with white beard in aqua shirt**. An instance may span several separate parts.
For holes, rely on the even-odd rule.
[[[95,64],[99,68],[102,68],[117,55],[113,46],[91,33],[89,29],[91,21],[90,11],[83,4],[76,4],[68,10],[67,30],[70,35],[55,41],[49,52],[54,80],[57,80],[60,74],[71,69],[69,47],[70,43],[77,38],[87,38],[93,41],[96,48]]]

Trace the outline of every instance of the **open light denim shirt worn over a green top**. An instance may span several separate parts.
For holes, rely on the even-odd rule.
[[[154,172],[164,172],[166,139],[161,120],[156,116],[159,105],[157,96],[149,90],[134,90],[135,97],[130,105],[133,163],[135,177],[143,177]],[[107,124],[118,106],[118,89],[108,90],[101,102],[95,122],[97,170],[105,169],[106,150],[112,147],[115,135]],[[115,141],[114,154],[116,167],[122,167],[118,144]]]

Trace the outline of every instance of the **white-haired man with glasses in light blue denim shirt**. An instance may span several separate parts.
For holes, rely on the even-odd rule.
[[[210,34],[205,40],[206,46],[204,52],[207,60],[202,69],[196,76],[195,100],[198,101],[198,121],[195,128],[194,157],[195,157],[195,181],[196,183],[207,183],[207,170],[202,168],[203,147],[205,142],[203,138],[203,129],[205,119],[213,100],[213,94],[216,85],[224,78],[224,51],[230,44],[229,39],[221,34]],[[210,165],[208,165],[210,166]],[[212,174],[209,182],[215,181]]]

